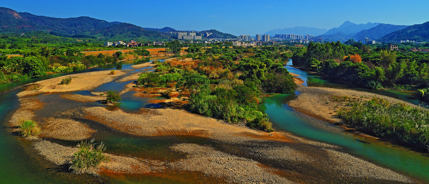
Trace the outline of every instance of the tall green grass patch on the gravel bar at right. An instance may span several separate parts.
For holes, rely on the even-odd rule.
[[[344,123],[362,127],[376,136],[429,151],[429,111],[373,98],[351,102],[338,111]]]

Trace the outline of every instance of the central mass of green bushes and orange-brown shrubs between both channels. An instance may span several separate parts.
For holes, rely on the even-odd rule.
[[[192,49],[194,50],[194,49]],[[257,110],[265,93],[291,93],[296,84],[275,47],[213,47],[157,63],[155,73],[140,75],[144,87],[174,87],[189,97],[190,110],[226,122],[273,131],[267,115]],[[185,59],[192,58],[192,59]]]

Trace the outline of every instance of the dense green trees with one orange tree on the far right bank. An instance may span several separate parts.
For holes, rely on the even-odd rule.
[[[340,42],[313,43],[296,51],[293,65],[328,77],[342,79],[360,87],[418,90],[427,102],[429,54],[385,47],[346,45]]]

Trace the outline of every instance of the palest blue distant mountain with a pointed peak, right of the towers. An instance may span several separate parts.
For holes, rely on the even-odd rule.
[[[337,33],[342,33],[345,35],[354,35],[362,30],[367,30],[373,27],[378,26],[380,23],[372,23],[368,22],[367,24],[354,24],[350,21],[345,21],[341,26],[338,28],[332,28],[328,30],[324,35],[334,35]]]

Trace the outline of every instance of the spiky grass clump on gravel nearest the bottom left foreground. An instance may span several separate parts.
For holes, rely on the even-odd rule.
[[[106,146],[103,142],[100,144],[91,141],[82,141],[77,145],[79,151],[73,154],[73,159],[70,161],[69,170],[73,170],[75,174],[86,173],[92,168],[96,168],[101,162],[107,161],[108,157],[103,154]]]

